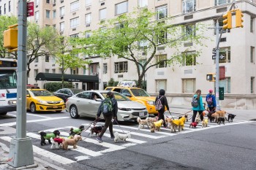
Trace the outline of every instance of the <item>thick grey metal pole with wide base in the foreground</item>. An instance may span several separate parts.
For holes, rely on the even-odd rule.
[[[26,136],[26,42],[27,2],[18,1],[18,89],[16,136],[11,139],[8,164],[13,167],[34,164],[32,141]]]

